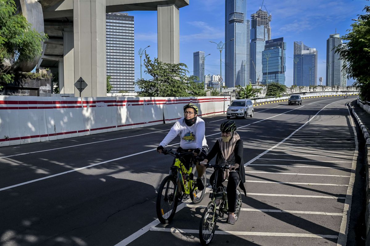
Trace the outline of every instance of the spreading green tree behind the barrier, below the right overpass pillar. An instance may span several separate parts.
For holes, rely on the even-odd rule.
[[[139,79],[135,84],[141,88],[140,97],[189,97],[205,96],[203,83],[195,82],[196,76],[187,76],[188,67],[184,63],[165,63],[154,58],[152,61],[145,52],[145,73],[152,79]]]

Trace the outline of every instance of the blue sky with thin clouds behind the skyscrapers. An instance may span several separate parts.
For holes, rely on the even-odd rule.
[[[193,52],[204,51],[211,53],[205,61],[206,74],[219,74],[219,51],[216,45],[208,42],[224,41],[225,39],[225,1],[224,0],[189,0],[189,6],[180,8],[180,62],[188,66],[189,75],[193,74]],[[250,17],[260,5],[260,1],[247,2],[247,14]],[[351,19],[363,14],[366,0],[310,0],[293,1],[265,0],[269,13],[272,13],[272,38],[284,37],[287,43],[286,50],[286,86],[293,84],[293,42],[303,43],[318,51],[318,77],[326,80],[326,39],[335,30],[341,36],[350,29]],[[262,7],[265,10],[264,7]],[[140,58],[138,51],[145,48],[148,54],[158,57],[157,48],[157,11],[131,11],[129,15],[135,20],[135,79],[140,78]],[[144,60],[144,57],[143,57]],[[225,61],[224,52],[222,60]],[[224,64],[223,64],[224,65]],[[222,74],[224,74],[222,67]],[[150,76],[144,73],[143,77]],[[319,83],[319,80],[317,80]],[[347,84],[351,84],[349,81]]]

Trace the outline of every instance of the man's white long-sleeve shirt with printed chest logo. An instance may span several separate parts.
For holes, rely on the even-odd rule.
[[[205,138],[205,123],[203,119],[197,117],[196,122],[192,126],[185,123],[185,118],[181,118],[175,122],[167,136],[159,145],[166,147],[174,138],[179,135],[180,147],[183,149],[202,149],[202,146],[207,145]]]

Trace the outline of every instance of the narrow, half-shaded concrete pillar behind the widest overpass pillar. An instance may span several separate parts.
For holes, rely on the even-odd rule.
[[[59,80],[60,93],[75,93],[74,91],[74,39],[73,28],[63,31],[63,80]],[[61,73],[61,72],[59,72]]]

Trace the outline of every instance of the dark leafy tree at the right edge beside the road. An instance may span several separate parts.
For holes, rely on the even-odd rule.
[[[353,85],[359,90],[361,100],[370,101],[370,6],[364,10],[367,14],[358,15],[349,33],[342,36],[348,42],[338,45],[335,52],[344,60],[342,69],[347,77],[356,80]]]

